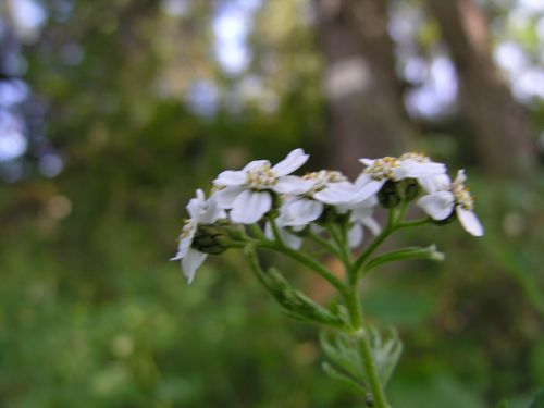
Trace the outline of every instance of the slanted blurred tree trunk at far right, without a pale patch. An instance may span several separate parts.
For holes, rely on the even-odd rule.
[[[494,175],[534,174],[536,148],[520,107],[495,66],[489,30],[473,0],[429,0],[460,79],[462,113],[478,135],[480,158]]]

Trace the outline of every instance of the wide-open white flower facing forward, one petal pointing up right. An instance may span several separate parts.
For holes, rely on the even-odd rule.
[[[313,183],[288,175],[308,158],[302,149],[295,149],[274,166],[268,160],[256,160],[240,171],[221,173],[213,181],[222,188],[215,193],[219,206],[232,210],[231,220],[234,222],[252,224],[259,221],[272,208],[271,191],[296,195],[312,187]]]

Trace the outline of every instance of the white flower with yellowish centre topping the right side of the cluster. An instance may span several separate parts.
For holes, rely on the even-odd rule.
[[[361,202],[380,191],[387,181],[417,178],[419,182],[446,172],[442,163],[423,160],[422,154],[406,153],[400,158],[360,159],[367,169],[355,182],[353,202]]]

